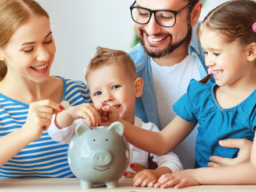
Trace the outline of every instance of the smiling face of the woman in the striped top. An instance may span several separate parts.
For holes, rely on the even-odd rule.
[[[8,67],[6,76],[37,83],[47,80],[56,52],[47,17],[32,16],[0,51],[0,59],[5,60]]]

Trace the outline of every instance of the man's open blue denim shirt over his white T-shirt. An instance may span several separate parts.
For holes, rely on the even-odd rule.
[[[200,22],[192,27],[191,41],[189,44],[189,55],[194,55],[197,61],[198,72],[201,79],[207,75],[208,67],[205,66],[204,50],[201,48],[201,43],[197,37],[197,28]],[[157,101],[155,99],[155,90],[152,80],[152,73],[150,67],[150,56],[145,54],[141,44],[136,45],[129,52],[133,59],[138,77],[141,77],[144,81],[143,94],[140,98],[136,99],[136,112],[135,116],[142,119],[143,122],[152,122],[159,126],[158,113],[157,113]]]

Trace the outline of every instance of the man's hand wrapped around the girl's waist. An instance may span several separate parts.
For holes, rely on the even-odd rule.
[[[226,140],[220,140],[219,145],[228,148],[239,148],[237,158],[223,158],[214,155],[210,157],[212,162],[207,164],[208,167],[229,166],[243,162],[250,162],[251,147],[253,146],[253,141],[243,138],[229,138]]]

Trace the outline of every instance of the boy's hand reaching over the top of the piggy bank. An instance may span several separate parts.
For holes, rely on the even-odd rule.
[[[86,103],[70,106],[69,109],[67,109],[67,112],[72,119],[86,119],[89,126],[99,126],[101,123],[101,115],[93,104]]]

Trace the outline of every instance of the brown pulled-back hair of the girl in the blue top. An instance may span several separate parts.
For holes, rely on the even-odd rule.
[[[205,30],[221,34],[226,43],[236,42],[245,48],[256,42],[253,24],[256,22],[256,2],[251,0],[227,1],[209,12],[197,29],[200,37]],[[208,75],[207,77],[209,77]],[[208,81],[207,79],[202,79]]]

